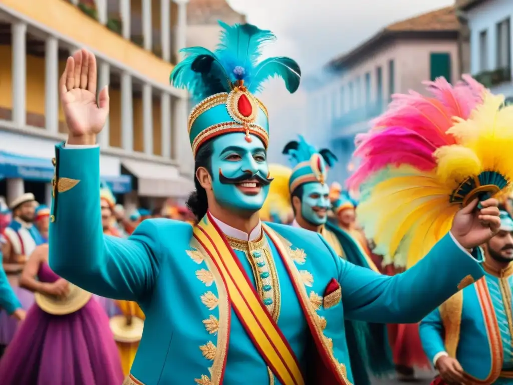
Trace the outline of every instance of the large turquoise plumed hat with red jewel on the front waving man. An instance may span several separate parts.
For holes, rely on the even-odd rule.
[[[270,57],[260,61],[264,43],[274,41],[271,31],[251,24],[230,26],[219,22],[222,31],[217,49],[182,49],[185,59],[170,75],[174,87],[186,88],[196,106],[188,120],[189,140],[194,157],[207,140],[230,132],[259,137],[267,148],[269,122],[267,109],[254,93],[273,76],[285,81],[289,92],[300,83],[301,70],[289,57]]]

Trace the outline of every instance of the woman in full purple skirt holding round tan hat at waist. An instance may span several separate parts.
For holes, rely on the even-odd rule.
[[[88,293],[48,266],[48,245],[38,246],[20,284],[35,293],[0,360],[0,382],[19,385],[119,384],[123,381],[109,320]]]

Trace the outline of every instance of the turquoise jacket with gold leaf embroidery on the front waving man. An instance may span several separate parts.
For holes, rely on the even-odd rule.
[[[227,309],[226,289],[218,272],[204,255],[191,252],[193,228],[183,222],[155,219],[143,221],[128,239],[104,236],[100,149],[57,145],[54,163],[51,268],[97,295],[136,301],[146,315],[139,351],[125,383],[273,383],[242,323],[233,309]],[[78,203],[84,215],[77,213]],[[352,382],[345,318],[418,322],[455,294],[461,282],[483,276],[480,263],[450,235],[406,273],[388,277],[341,259],[319,234],[291,226],[268,226],[288,244],[285,262],[276,257],[274,246],[269,250],[281,292],[278,326],[301,365],[306,383]],[[247,275],[253,277],[244,256],[236,255]],[[285,263],[292,265],[293,277]],[[327,306],[323,294],[333,281],[341,290],[338,300]],[[251,283],[255,286],[254,280]],[[300,290],[294,291],[293,285],[301,286]],[[311,304],[308,317],[300,305],[305,298]],[[308,328],[310,322],[319,329]],[[329,373],[314,367],[320,353],[319,345],[312,347],[310,343],[313,334],[318,339],[322,335],[323,344],[330,347],[329,356],[323,357],[328,357],[329,365],[336,363],[330,368],[342,373],[337,377],[340,379],[329,375],[326,381],[319,379]]]

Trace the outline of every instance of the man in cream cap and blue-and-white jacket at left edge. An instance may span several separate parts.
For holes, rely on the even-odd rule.
[[[34,295],[19,287],[19,275],[35,247],[45,242],[33,224],[35,205],[34,195],[30,192],[17,197],[11,202],[9,208],[12,211],[13,218],[4,229],[4,241],[2,242],[4,269],[9,284],[22,303],[24,310],[29,310],[34,302]],[[5,349],[11,342],[17,326],[16,320],[10,317],[8,312],[0,312],[0,350]]]

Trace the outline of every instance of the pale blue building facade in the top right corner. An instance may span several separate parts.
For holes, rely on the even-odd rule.
[[[460,0],[459,14],[470,33],[470,73],[494,93],[513,101],[509,0]]]

